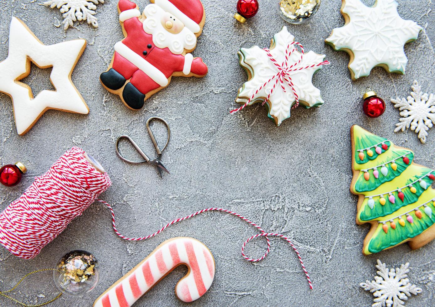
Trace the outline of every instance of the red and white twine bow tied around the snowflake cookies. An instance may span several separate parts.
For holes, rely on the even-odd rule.
[[[291,54],[296,50],[296,46],[299,46],[301,48],[301,58],[297,62],[288,66],[288,60],[290,59]],[[293,47],[293,48],[290,50],[290,47]],[[272,89],[268,93],[268,96],[266,97],[266,99],[264,99],[264,101],[261,103],[261,105],[263,106],[264,103],[266,103],[266,101],[269,100],[270,96],[272,95],[272,92],[275,89],[275,86],[279,82],[283,92],[287,92],[287,90],[285,89],[285,84],[288,84],[288,86],[290,86],[291,90],[293,91],[294,100],[296,101],[296,103],[294,104],[294,106],[291,107],[291,109],[297,108],[299,106],[299,96],[298,96],[298,93],[296,92],[296,89],[294,88],[294,84],[293,84],[293,81],[291,79],[290,73],[292,71],[297,71],[297,70],[302,70],[302,69],[307,69],[307,68],[312,68],[312,67],[330,64],[329,61],[325,60],[325,61],[318,63],[318,64],[308,65],[308,66],[299,67],[299,68],[293,68],[294,66],[301,63],[302,58],[304,57],[304,47],[301,45],[301,43],[298,43],[298,42],[293,42],[293,43],[290,43],[287,45],[287,48],[285,49],[285,59],[281,63],[281,65],[277,62],[276,59],[274,59],[274,57],[271,54],[271,51],[268,48],[263,48],[263,50],[266,51],[269,59],[272,61],[272,63],[278,69],[278,73],[276,73],[274,76],[272,76],[270,79],[268,79],[263,85],[261,85],[257,90],[255,90],[254,93],[252,94],[252,96],[248,99],[248,101],[243,106],[241,106],[238,109],[231,110],[230,111],[231,114],[240,111],[245,106],[248,106],[248,104],[251,102],[251,100],[254,99],[255,95],[257,95],[258,92],[261,91],[261,89],[263,89],[265,86],[267,86],[273,80],[275,80],[275,83],[273,84]]]

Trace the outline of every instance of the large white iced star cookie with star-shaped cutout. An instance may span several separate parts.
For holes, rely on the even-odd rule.
[[[12,17],[9,53],[0,62],[0,92],[12,98],[17,132],[25,134],[48,109],[89,113],[75,88],[71,74],[86,47],[86,40],[44,45],[18,18]],[[30,60],[40,68],[52,67],[50,81],[55,91],[43,90],[33,98],[32,90],[19,80],[30,74]]]

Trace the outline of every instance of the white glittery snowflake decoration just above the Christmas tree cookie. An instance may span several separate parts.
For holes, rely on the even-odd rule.
[[[424,144],[429,128],[435,124],[435,99],[434,94],[422,92],[422,86],[418,85],[417,81],[411,86],[411,96],[405,98],[391,99],[394,107],[398,108],[399,114],[402,116],[396,124],[394,132],[399,130],[405,131],[411,126],[411,130],[418,133],[418,139]]]

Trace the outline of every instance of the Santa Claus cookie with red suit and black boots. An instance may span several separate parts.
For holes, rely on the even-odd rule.
[[[141,13],[136,3],[119,0],[119,20],[124,40],[115,53],[103,86],[120,96],[130,109],[171,82],[172,76],[203,77],[207,65],[190,53],[202,32],[205,11],[200,0],[151,0]]]

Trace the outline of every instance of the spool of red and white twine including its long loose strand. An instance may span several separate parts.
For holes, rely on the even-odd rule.
[[[73,147],[65,152],[44,175],[37,177],[20,198],[13,201],[0,213],[0,243],[12,254],[31,259],[39,254],[45,245],[64,231],[70,221],[81,215],[94,201],[99,201],[110,209],[115,233],[120,238],[129,241],[152,238],[172,224],[192,218],[203,212],[221,211],[237,216],[261,232],[244,241],[241,248],[244,259],[251,262],[264,259],[270,251],[269,237],[282,238],[296,252],[302,270],[307,277],[309,287],[310,289],[313,288],[301,256],[289,238],[282,234],[265,232],[254,222],[223,208],[207,208],[184,218],[178,218],[146,237],[127,238],[123,236],[115,227],[113,208],[106,201],[97,199],[110,185],[110,178],[99,163],[82,149]],[[249,241],[258,237],[266,238],[267,250],[263,256],[254,259],[244,253],[244,248]]]

